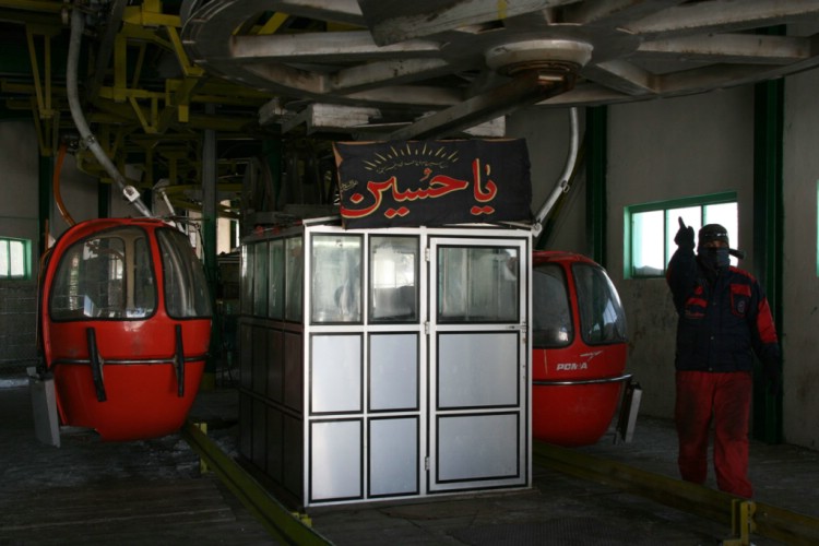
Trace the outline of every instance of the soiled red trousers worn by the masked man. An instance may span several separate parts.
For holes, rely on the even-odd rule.
[[[717,487],[751,498],[748,480],[750,372],[677,371],[675,420],[679,439],[679,473],[703,484],[708,475],[709,431],[713,417],[714,471]]]

